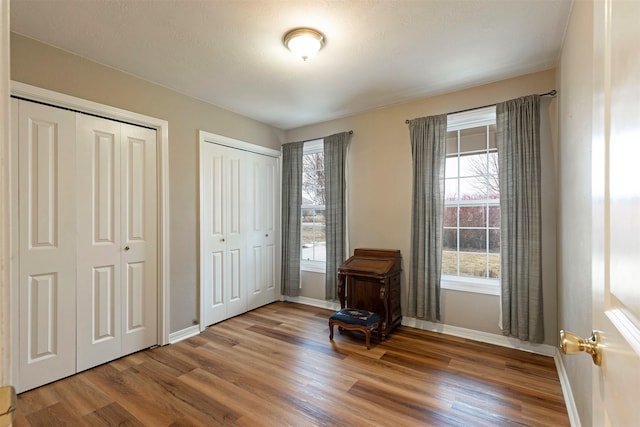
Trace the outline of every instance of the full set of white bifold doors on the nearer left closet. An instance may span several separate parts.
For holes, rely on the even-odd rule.
[[[156,133],[15,99],[12,123],[21,392],[157,343]]]

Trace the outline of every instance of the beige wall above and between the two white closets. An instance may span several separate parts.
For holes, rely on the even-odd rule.
[[[279,150],[282,132],[79,56],[11,35],[11,79],[169,122],[170,330],[198,318],[198,130]]]

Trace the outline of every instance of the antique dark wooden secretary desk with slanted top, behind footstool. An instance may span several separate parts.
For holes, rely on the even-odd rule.
[[[368,310],[382,316],[384,339],[402,322],[401,273],[402,255],[399,250],[354,250],[353,256],[338,269],[340,306]]]

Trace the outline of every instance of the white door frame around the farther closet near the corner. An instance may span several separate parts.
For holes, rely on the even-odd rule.
[[[202,171],[202,146],[203,144],[216,144],[216,145],[222,145],[225,147],[229,147],[229,148],[235,148],[237,150],[243,150],[243,151],[249,151],[251,153],[255,153],[255,154],[262,154],[264,156],[270,156],[270,157],[275,157],[277,159],[280,159],[281,153],[279,150],[274,150],[273,148],[269,148],[269,147],[264,147],[262,145],[256,145],[256,144],[252,144],[250,142],[244,142],[244,141],[240,141],[238,139],[233,139],[233,138],[229,138],[228,136],[223,136],[223,135],[217,135],[215,133],[211,133],[211,132],[207,132],[207,131],[203,131],[200,130],[198,131],[198,202],[199,202],[199,210],[198,212],[200,213],[200,220],[202,221],[202,218],[204,218],[204,201],[203,201],[203,194],[202,194],[202,188],[203,188],[203,171]],[[281,175],[282,172],[280,172]],[[278,188],[280,187],[280,183],[278,183]],[[280,192],[278,192],[278,197],[277,197],[277,203],[278,205],[280,204]],[[279,223],[280,219],[278,217],[278,223]],[[202,254],[203,254],[203,242],[202,242],[202,226],[200,224],[198,224],[198,264],[199,264],[199,268],[198,268],[198,273],[199,273],[199,277],[198,277],[198,283],[200,284],[199,286],[199,310],[200,312],[198,313],[198,318],[200,319],[200,325],[198,325],[199,331],[202,332],[204,331],[208,325],[205,325],[204,321],[203,321],[203,313],[204,313],[204,298],[202,298],[202,295],[204,293],[204,282],[202,280],[203,277],[203,272],[202,272]],[[279,254],[280,253],[280,233],[278,232],[278,237],[276,238],[276,253]],[[276,259],[276,265],[280,265],[279,262],[279,258]],[[277,281],[279,282],[280,276],[277,275]]]

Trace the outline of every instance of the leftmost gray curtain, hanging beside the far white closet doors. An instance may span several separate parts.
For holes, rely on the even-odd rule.
[[[304,142],[282,146],[282,294],[300,295],[302,154]]]

